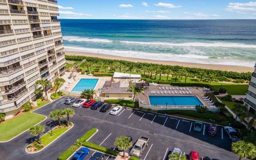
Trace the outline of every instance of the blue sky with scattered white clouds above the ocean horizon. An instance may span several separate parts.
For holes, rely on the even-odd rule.
[[[60,19],[256,19],[256,1],[59,0]]]

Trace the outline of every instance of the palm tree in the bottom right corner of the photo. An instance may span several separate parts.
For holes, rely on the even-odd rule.
[[[253,143],[245,141],[233,142],[232,151],[239,156],[239,160],[242,158],[254,159],[256,157],[256,147]]]

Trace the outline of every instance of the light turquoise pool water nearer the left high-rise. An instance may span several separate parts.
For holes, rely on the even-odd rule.
[[[73,92],[83,92],[84,90],[93,90],[99,79],[81,79],[73,88]]]

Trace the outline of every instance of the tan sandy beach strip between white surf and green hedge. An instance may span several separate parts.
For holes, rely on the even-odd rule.
[[[156,63],[156,64],[162,64],[162,65],[171,65],[171,66],[183,66],[183,67],[227,70],[227,71],[237,71],[237,72],[253,72],[254,70],[253,67],[244,67],[244,66],[211,65],[211,64],[189,63],[189,62],[178,62],[178,61],[161,61],[161,60],[121,57],[116,55],[77,52],[77,51],[64,51],[64,52],[66,55],[83,55],[85,57],[95,57],[95,58],[104,58],[104,59],[112,59],[112,60],[126,60],[126,61],[133,61],[133,62]]]

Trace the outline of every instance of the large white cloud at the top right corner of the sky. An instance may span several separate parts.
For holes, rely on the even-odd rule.
[[[229,3],[226,11],[237,13],[256,13],[256,2]]]

